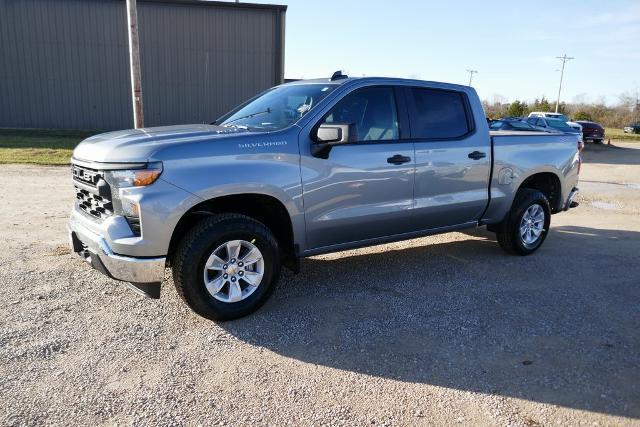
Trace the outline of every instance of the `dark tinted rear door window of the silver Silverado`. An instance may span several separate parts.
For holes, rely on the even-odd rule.
[[[408,90],[413,138],[455,139],[471,132],[466,96],[461,92],[428,88]]]

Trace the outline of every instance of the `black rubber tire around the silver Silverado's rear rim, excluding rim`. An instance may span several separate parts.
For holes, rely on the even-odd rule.
[[[542,233],[540,233],[537,239],[533,243],[527,244],[520,234],[520,225],[525,212],[535,204],[542,207],[544,224]],[[516,194],[507,217],[496,227],[498,244],[508,254],[531,255],[540,248],[547,237],[550,223],[551,208],[549,207],[549,200],[547,200],[545,195],[538,190],[521,188]]]

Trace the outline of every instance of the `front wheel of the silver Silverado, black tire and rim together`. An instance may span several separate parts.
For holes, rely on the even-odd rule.
[[[278,243],[262,223],[221,214],[192,228],[180,242],[173,281],[199,315],[231,320],[257,310],[280,275]]]

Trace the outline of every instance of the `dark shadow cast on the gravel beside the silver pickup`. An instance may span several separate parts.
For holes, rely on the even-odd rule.
[[[640,233],[555,227],[530,257],[456,239],[305,260],[221,326],[307,363],[640,418]]]

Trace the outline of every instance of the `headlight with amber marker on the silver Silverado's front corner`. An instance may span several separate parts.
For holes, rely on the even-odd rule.
[[[104,179],[111,187],[111,202],[116,215],[139,218],[140,207],[126,196],[128,188],[144,187],[157,181],[162,173],[162,162],[148,163],[143,169],[117,169],[106,171]]]

